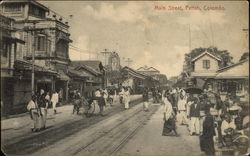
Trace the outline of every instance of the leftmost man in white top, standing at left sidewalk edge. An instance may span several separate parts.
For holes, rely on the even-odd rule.
[[[31,128],[32,132],[38,132],[40,130],[39,127],[39,118],[41,116],[39,107],[37,105],[37,98],[35,95],[32,95],[31,100],[27,105],[27,110],[30,113],[30,118],[33,120],[33,127]]]

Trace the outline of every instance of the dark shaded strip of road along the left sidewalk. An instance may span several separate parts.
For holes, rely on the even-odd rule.
[[[141,100],[141,98],[138,98],[131,101],[131,108],[133,109],[134,107],[137,107],[137,104],[140,104]],[[74,138],[75,134],[79,134],[78,132],[80,131],[89,133],[89,127],[95,127],[96,124],[100,125],[104,121],[109,122],[108,120],[106,121],[106,119],[112,118],[112,116],[116,116],[117,114],[123,112],[124,108],[118,105],[106,110],[106,115],[104,117],[93,116],[91,118],[79,118],[76,121],[67,121],[65,123],[55,125],[39,133],[32,133],[9,141],[7,140],[2,145],[2,149],[5,153],[11,155],[40,155],[40,151],[45,151],[47,153],[47,149],[51,150],[51,148],[59,148],[60,145],[58,147],[58,142],[61,144],[67,139]],[[85,140],[85,138],[83,139]],[[67,148],[69,148],[69,151],[74,151],[75,149],[75,147],[72,147],[71,150],[70,146]],[[62,151],[62,149],[60,150]],[[57,155],[57,153],[55,154]],[[48,152],[48,155],[51,154]]]

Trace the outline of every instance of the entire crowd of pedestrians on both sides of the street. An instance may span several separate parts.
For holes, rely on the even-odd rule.
[[[112,106],[114,99],[119,98],[124,109],[129,109],[130,88],[121,87],[114,89],[97,89],[91,99],[86,99],[78,90],[74,91],[73,113],[79,113],[81,105],[88,105],[88,110],[99,107],[99,114],[104,116],[104,110],[109,103]],[[190,136],[199,136],[200,147],[207,155],[215,154],[214,140],[218,148],[238,146],[246,152],[246,143],[249,141],[249,116],[242,115],[242,107],[237,98],[227,95],[225,99],[212,92],[211,89],[200,93],[186,92],[184,89],[172,88],[160,90],[145,88],[142,93],[143,109],[148,111],[149,94],[153,102],[164,104],[164,126],[162,135],[179,136],[176,122],[186,125]],[[27,109],[33,120],[32,131],[37,132],[46,128],[46,118],[49,106],[54,114],[59,103],[59,93],[51,94],[43,89],[32,96]],[[118,100],[118,99],[117,99]],[[216,139],[214,139],[216,138]]]

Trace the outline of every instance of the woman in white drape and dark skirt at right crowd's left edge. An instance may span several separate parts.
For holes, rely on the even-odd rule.
[[[164,126],[162,135],[163,136],[171,136],[175,135],[178,136],[176,132],[176,125],[175,125],[175,113],[173,111],[172,105],[169,102],[169,92],[165,93],[164,98]]]

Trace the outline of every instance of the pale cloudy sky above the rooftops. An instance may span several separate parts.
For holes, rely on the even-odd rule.
[[[249,51],[247,2],[39,2],[69,22],[71,45],[78,48],[70,48],[71,60],[100,59],[108,49],[123,66],[130,58],[133,69],[152,66],[169,78],[181,73],[190,49],[215,46],[228,50],[233,62]]]

